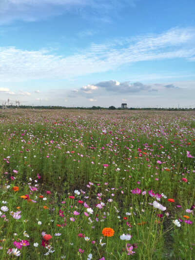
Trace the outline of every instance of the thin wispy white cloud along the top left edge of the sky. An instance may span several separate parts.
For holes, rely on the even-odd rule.
[[[113,10],[135,6],[137,0],[1,0],[0,24],[14,20],[37,21],[63,13],[77,14],[83,18],[109,20]],[[111,12],[112,11],[112,12]]]

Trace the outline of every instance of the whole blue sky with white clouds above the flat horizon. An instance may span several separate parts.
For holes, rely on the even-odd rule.
[[[194,0],[0,0],[0,104],[195,108]]]

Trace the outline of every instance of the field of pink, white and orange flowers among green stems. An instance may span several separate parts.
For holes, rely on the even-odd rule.
[[[195,259],[195,112],[0,111],[0,259]]]

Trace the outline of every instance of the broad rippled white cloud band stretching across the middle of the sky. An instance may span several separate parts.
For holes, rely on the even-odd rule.
[[[174,28],[162,34],[131,39],[124,45],[91,44],[72,56],[39,51],[0,48],[0,80],[70,79],[86,74],[115,70],[144,60],[165,60],[195,55],[195,28]]]

